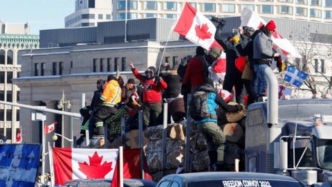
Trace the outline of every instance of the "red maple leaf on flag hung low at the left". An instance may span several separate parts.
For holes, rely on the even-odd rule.
[[[89,157],[89,161],[90,165],[85,161],[84,163],[78,163],[79,170],[86,175],[86,179],[104,179],[105,175],[113,170],[112,162],[104,161],[102,163],[102,157],[99,157],[97,152],[93,154],[93,157]]]

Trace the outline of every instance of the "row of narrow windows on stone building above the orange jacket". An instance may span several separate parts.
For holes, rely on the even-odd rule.
[[[120,63],[121,59],[121,65]],[[93,72],[111,72],[111,71],[127,71],[127,58],[114,57],[114,58],[95,58],[93,59]]]

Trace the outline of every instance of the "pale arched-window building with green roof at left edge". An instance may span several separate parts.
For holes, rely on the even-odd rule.
[[[17,53],[21,49],[39,47],[39,36],[30,35],[29,24],[0,23],[0,100],[16,103],[19,87],[12,84],[12,78],[19,77],[21,65]],[[19,125],[19,107],[0,105],[0,134],[8,143],[15,143]]]

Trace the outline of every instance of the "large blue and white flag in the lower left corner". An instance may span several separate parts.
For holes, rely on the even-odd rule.
[[[40,148],[38,144],[0,145],[0,186],[35,186]]]

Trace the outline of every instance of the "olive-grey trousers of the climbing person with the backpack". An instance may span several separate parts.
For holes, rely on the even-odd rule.
[[[208,143],[208,151],[216,151],[217,159],[216,163],[223,164],[223,157],[225,151],[226,137],[223,134],[223,130],[219,127],[216,122],[203,122],[198,123],[197,127],[202,132]]]

